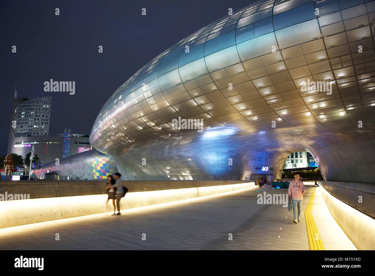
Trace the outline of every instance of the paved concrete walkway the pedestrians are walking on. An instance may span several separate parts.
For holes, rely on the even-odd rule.
[[[298,224],[282,205],[257,204],[257,195],[263,191],[251,187],[124,210],[121,216],[105,213],[0,229],[0,249],[309,250],[304,211],[312,189],[323,188],[308,188]],[[287,189],[265,192],[287,193]],[[324,209],[320,192],[315,198],[318,207],[314,202],[312,212],[319,219],[316,223],[326,249],[355,249],[343,232],[337,235],[341,229]],[[228,239],[230,234],[233,240]]]

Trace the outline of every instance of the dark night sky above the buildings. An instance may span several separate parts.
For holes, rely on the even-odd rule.
[[[49,135],[89,134],[102,105],[172,44],[254,0],[0,0],[0,155],[6,153],[17,79],[20,96],[52,95]],[[60,15],[55,15],[55,8]],[[147,15],[141,15],[146,8]],[[12,53],[12,46],[17,53]],[[103,45],[104,53],[98,53]],[[75,81],[75,95],[44,92],[44,81]]]

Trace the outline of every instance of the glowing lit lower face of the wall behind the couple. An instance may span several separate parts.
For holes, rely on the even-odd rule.
[[[154,191],[129,192],[121,199],[121,210],[171,204],[204,196],[220,196],[242,189],[256,189],[254,182],[216,186],[190,187]],[[104,204],[108,195],[61,196],[0,201],[0,229],[50,220],[68,219],[113,211]],[[21,211],[20,211],[21,210]],[[1,231],[0,231],[1,237]]]

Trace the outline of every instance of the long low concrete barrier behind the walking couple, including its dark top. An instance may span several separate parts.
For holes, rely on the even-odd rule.
[[[254,186],[249,181],[123,181],[129,189],[121,210],[214,195]],[[0,195],[30,199],[0,201],[0,228],[113,211],[105,181],[3,181]],[[79,195],[82,193],[82,195]]]

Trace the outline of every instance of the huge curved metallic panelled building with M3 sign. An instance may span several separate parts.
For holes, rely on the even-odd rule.
[[[309,151],[327,180],[373,182],[374,22],[375,1],[256,2],[139,69],[90,142],[124,179],[275,179]],[[203,131],[172,127],[178,118]]]

